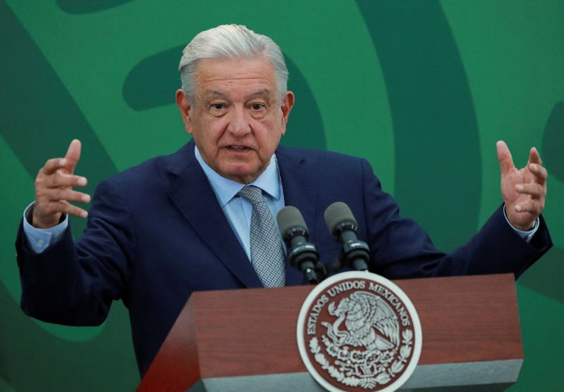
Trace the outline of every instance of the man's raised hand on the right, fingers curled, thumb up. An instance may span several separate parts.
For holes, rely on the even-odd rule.
[[[522,169],[513,164],[507,144],[498,141],[498,160],[501,169],[501,196],[505,213],[517,229],[532,229],[534,221],[544,210],[546,198],[546,169],[542,167],[537,148],[531,148],[529,161]]]

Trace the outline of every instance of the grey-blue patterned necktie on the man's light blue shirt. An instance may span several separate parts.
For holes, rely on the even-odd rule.
[[[247,185],[238,196],[252,204],[251,263],[264,287],[281,287],[286,282],[286,256],[282,249],[278,227],[266,205],[262,190]]]

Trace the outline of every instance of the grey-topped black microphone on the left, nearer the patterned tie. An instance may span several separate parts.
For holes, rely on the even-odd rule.
[[[298,208],[287,206],[276,215],[278,229],[288,248],[290,264],[298,268],[309,284],[317,284],[320,279],[317,275],[317,262],[319,253],[314,244],[307,242],[309,233],[302,213]]]

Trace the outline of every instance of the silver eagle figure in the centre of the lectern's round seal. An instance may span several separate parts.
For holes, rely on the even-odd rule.
[[[381,297],[367,291],[356,291],[335,306],[329,314],[338,317],[330,324],[323,322],[327,336],[336,346],[364,347],[369,351],[389,350],[400,343],[400,326],[396,313]],[[346,330],[339,329],[345,322]]]

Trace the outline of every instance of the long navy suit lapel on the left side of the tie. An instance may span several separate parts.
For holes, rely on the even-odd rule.
[[[193,141],[171,156],[167,170],[171,173],[168,196],[202,241],[245,286],[262,287],[197,163]]]

